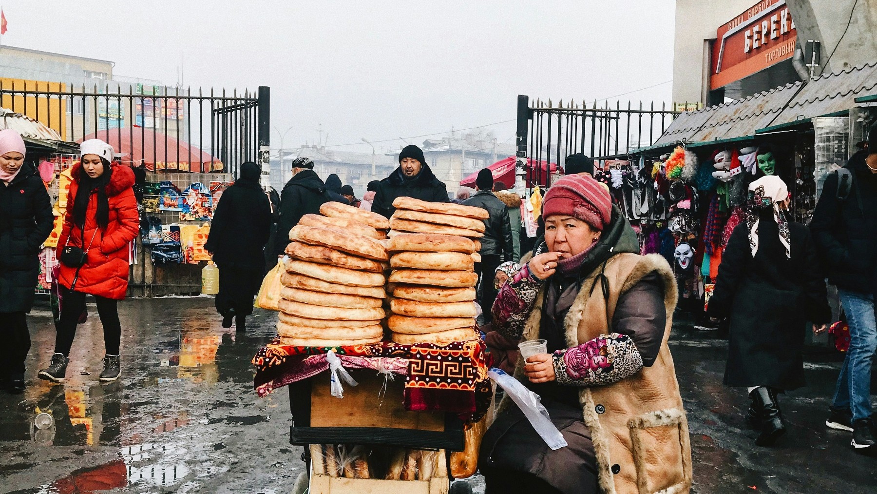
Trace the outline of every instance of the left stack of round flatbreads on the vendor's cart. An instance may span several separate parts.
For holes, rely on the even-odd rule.
[[[383,338],[387,218],[326,203],[289,231],[277,333],[281,344],[339,347]]]

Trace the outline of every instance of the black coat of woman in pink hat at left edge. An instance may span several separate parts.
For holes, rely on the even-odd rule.
[[[39,247],[52,232],[52,200],[30,163],[0,183],[0,312],[27,312],[39,276]]]

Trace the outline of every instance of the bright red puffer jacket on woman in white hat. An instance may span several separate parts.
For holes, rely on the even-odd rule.
[[[69,196],[73,204],[82,180],[82,163],[73,167],[73,182]],[[74,226],[74,208],[68,207],[64,227],[58,239],[58,254],[67,245],[88,249],[88,261],[82,268],[71,268],[61,263],[58,283],[79,292],[122,300],[128,290],[128,244],[140,231],[137,199],[134,198],[134,172],[131,167],[114,163],[110,183],[103,191],[110,203],[106,229],[97,225],[97,194],[91,193],[85,213],[85,228]],[[84,240],[83,240],[84,239]],[[94,240],[92,240],[94,239]],[[91,247],[89,248],[89,244]],[[83,247],[84,246],[84,247]],[[75,282],[75,286],[74,286]]]

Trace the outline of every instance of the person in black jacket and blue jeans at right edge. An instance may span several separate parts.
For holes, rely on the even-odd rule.
[[[874,448],[871,367],[877,349],[877,126],[868,147],[829,175],[810,223],[850,325],[850,347],[825,425],[852,432],[852,447]]]

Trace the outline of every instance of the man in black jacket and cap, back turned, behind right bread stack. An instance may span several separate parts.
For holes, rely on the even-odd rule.
[[[488,168],[483,168],[475,179],[475,195],[463,201],[463,205],[481,208],[490,214],[490,218],[484,220],[484,237],[481,238],[479,251],[481,262],[475,263],[475,272],[481,280],[481,297],[478,301],[485,324],[491,321],[490,308],[496,299],[493,283],[496,268],[503,261],[515,261],[512,259],[514,246],[511,243],[509,208],[496,197],[492,189],[493,174]]]

